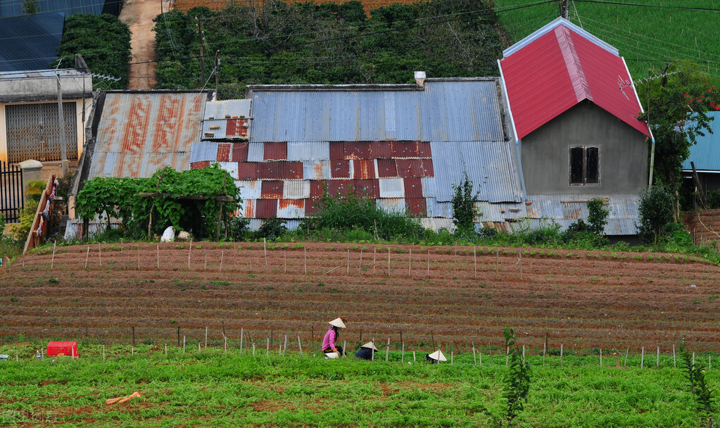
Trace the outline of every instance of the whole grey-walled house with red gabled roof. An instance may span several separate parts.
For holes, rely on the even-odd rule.
[[[498,63],[528,217],[568,226],[601,197],[615,219],[606,233],[634,231],[652,134],[618,50],[558,18]]]

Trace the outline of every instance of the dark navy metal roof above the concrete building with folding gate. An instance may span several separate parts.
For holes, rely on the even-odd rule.
[[[64,22],[62,13],[0,18],[0,71],[48,68],[57,58]]]

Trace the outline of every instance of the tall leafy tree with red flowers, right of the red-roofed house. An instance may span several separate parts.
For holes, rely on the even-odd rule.
[[[720,106],[709,76],[696,64],[668,63],[662,73],[675,74],[649,81],[649,105],[639,119],[649,121],[655,138],[654,176],[674,195],[682,184],[680,169],[690,147],[698,135],[712,133],[708,110]]]

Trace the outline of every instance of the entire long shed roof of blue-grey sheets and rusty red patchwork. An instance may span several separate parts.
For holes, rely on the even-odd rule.
[[[524,213],[498,79],[248,89],[251,104],[207,103],[205,141],[190,154],[192,167],[204,166],[215,144],[214,160],[237,180],[248,218],[303,218],[325,190],[352,189],[386,210],[451,219],[452,185],[463,171],[480,186],[479,206],[488,210],[479,221],[503,223]],[[207,128],[210,117],[221,116],[246,118],[248,143]],[[451,226],[428,226],[437,224]]]

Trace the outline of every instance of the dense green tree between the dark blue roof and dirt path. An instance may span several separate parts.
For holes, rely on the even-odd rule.
[[[58,59],[51,68],[69,66],[76,53],[83,55],[93,73],[116,77],[120,81],[94,79],[102,89],[125,89],[127,63],[130,62],[130,27],[111,14],[72,14],[65,20],[63,38],[57,49]],[[88,89],[90,90],[90,89]]]

